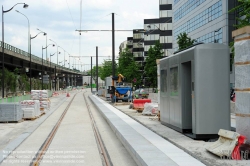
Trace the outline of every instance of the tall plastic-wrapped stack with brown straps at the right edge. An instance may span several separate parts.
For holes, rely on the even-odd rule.
[[[233,31],[236,132],[250,143],[250,26]]]

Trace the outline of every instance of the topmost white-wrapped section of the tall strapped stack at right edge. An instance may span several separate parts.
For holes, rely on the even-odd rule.
[[[250,40],[243,40],[234,43],[235,57],[234,62],[250,61]]]

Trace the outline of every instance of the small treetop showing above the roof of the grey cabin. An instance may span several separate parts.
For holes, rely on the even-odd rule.
[[[183,50],[189,46],[192,46],[195,42],[196,40],[188,37],[186,32],[180,33],[177,36],[177,44],[179,45],[179,50]]]

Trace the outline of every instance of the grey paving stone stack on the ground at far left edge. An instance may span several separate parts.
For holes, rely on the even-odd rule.
[[[23,110],[19,103],[0,104],[0,122],[18,122],[23,118]]]

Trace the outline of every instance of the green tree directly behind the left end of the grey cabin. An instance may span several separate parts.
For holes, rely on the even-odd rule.
[[[147,82],[150,82],[151,87],[157,87],[157,65],[156,59],[163,58],[162,46],[156,41],[154,47],[149,48],[144,67],[144,75],[147,77]]]

